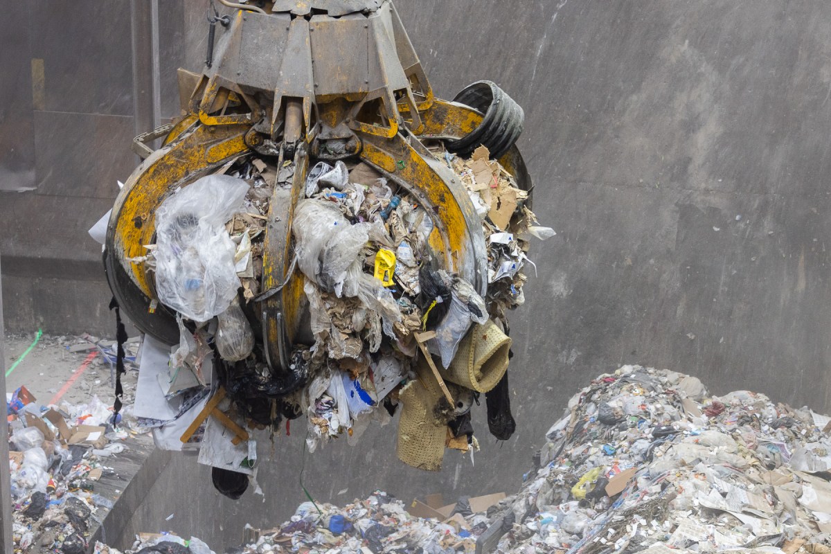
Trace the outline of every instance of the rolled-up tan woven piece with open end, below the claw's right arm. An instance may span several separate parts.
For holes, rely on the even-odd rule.
[[[488,320],[475,324],[459,343],[450,367],[441,373],[446,380],[476,392],[489,392],[508,370],[511,339]]]

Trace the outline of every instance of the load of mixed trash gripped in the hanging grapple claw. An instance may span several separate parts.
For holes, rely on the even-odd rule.
[[[206,443],[223,434],[195,434],[187,442],[197,448],[239,454],[200,461],[251,473],[245,429],[278,429],[282,419],[305,414],[313,451],[343,435],[356,440],[401,403],[399,457],[437,470],[445,446],[478,448],[469,410],[482,393],[491,432],[500,439],[513,433],[505,312],[524,302],[531,239],[554,233],[538,225],[528,193],[486,148],[470,159],[443,150],[435,156],[465,184],[481,218],[486,297],[441,267],[430,245],[433,218],[413,194],[366,163],[317,162],[293,214],[288,250],[289,275],[304,277],[311,336],[293,345],[288,377],[269,370],[258,302],[286,285],[261,286],[269,202],[276,189],[291,187],[293,163],[277,167],[246,154],[160,205],[157,242],[134,261],[153,268],[160,302],[177,312],[180,343],[154,395],[175,405],[170,413],[179,419],[205,409],[219,382],[227,398],[217,408],[243,440],[218,446]],[[158,436],[173,420],[143,423]]]

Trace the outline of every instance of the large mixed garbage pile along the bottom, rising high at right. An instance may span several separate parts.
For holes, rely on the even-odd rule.
[[[831,552],[829,432],[807,408],[626,365],[568,401],[522,490],[484,512],[427,497],[409,509],[436,517],[415,517],[380,492],[303,503],[233,552]]]

